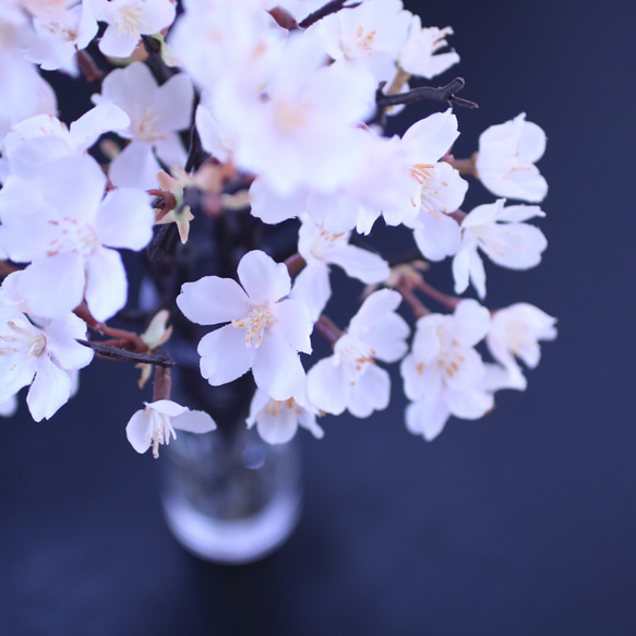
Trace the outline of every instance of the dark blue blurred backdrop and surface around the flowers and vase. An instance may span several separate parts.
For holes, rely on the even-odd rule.
[[[543,262],[487,269],[490,307],[559,319],[527,392],[497,394],[493,413],[451,420],[430,444],[406,430],[397,385],[369,420],[328,419],[322,441],[301,431],[297,531],[260,563],[224,567],[169,535],[158,461],[124,435],[147,398],[137,372],[97,360],[50,422],[24,409],[1,422],[0,634],[636,633],[636,7],[407,8],[453,26],[461,63],[433,83],[460,75],[480,105],[457,112],[456,156],[519,112],[548,134]],[[492,200],[478,183],[469,196],[467,209]],[[448,263],[436,269],[449,281]]]

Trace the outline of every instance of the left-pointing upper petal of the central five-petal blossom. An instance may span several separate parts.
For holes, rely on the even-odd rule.
[[[231,278],[204,276],[184,283],[177,297],[183,315],[200,325],[215,325],[247,317],[253,309],[241,286]]]

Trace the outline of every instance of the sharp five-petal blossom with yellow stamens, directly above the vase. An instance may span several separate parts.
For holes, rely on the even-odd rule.
[[[240,285],[218,276],[185,283],[177,297],[177,305],[192,322],[229,323],[199,344],[201,373],[217,386],[251,369],[256,386],[285,400],[304,385],[298,352],[311,352],[309,311],[285,299],[291,287],[287,267],[264,252],[248,252],[238,276]]]

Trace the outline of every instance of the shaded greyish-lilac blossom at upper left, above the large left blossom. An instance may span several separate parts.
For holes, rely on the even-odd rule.
[[[184,73],[172,75],[160,86],[148,67],[133,62],[109,73],[101,85],[98,104],[113,104],[130,117],[130,127],[118,134],[131,143],[110,164],[112,183],[125,188],[156,188],[160,169],[183,167],[185,149],[177,134],[190,125],[194,88]]]

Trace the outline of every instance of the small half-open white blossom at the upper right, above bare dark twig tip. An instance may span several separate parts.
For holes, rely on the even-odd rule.
[[[432,80],[447,71],[459,61],[454,51],[439,52],[448,46],[446,36],[453,35],[453,29],[431,26],[422,28],[419,15],[411,17],[410,31],[407,40],[399,49],[399,65],[407,73]]]

